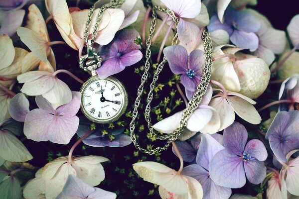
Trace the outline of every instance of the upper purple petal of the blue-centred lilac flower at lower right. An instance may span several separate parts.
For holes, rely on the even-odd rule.
[[[242,156],[247,138],[246,128],[242,124],[234,122],[224,129],[223,145],[229,153]]]

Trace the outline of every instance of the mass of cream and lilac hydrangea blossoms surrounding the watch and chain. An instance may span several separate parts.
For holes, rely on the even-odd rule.
[[[284,31],[247,6],[257,0],[118,2],[0,0],[1,197],[298,198],[299,15]],[[95,124],[80,110],[78,90],[88,74],[79,71],[78,57],[96,24],[93,51],[102,59],[96,75],[120,77],[129,94],[125,114],[109,124]],[[213,49],[209,85],[182,122],[201,88],[207,45]],[[146,87],[158,75],[152,92],[142,93],[140,81]],[[147,104],[133,103],[136,90],[149,95]],[[132,114],[137,103],[147,124],[143,112]],[[136,137],[130,136],[135,117]],[[133,147],[151,150],[181,125],[166,158]]]

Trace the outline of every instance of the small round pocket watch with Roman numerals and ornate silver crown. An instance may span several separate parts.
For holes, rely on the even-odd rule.
[[[80,68],[91,71],[92,74],[80,89],[81,110],[86,118],[93,122],[111,123],[125,113],[128,94],[125,86],[118,79],[99,78],[95,70],[101,67],[102,59],[93,52],[91,43],[91,39],[88,39],[88,54],[80,58]]]

